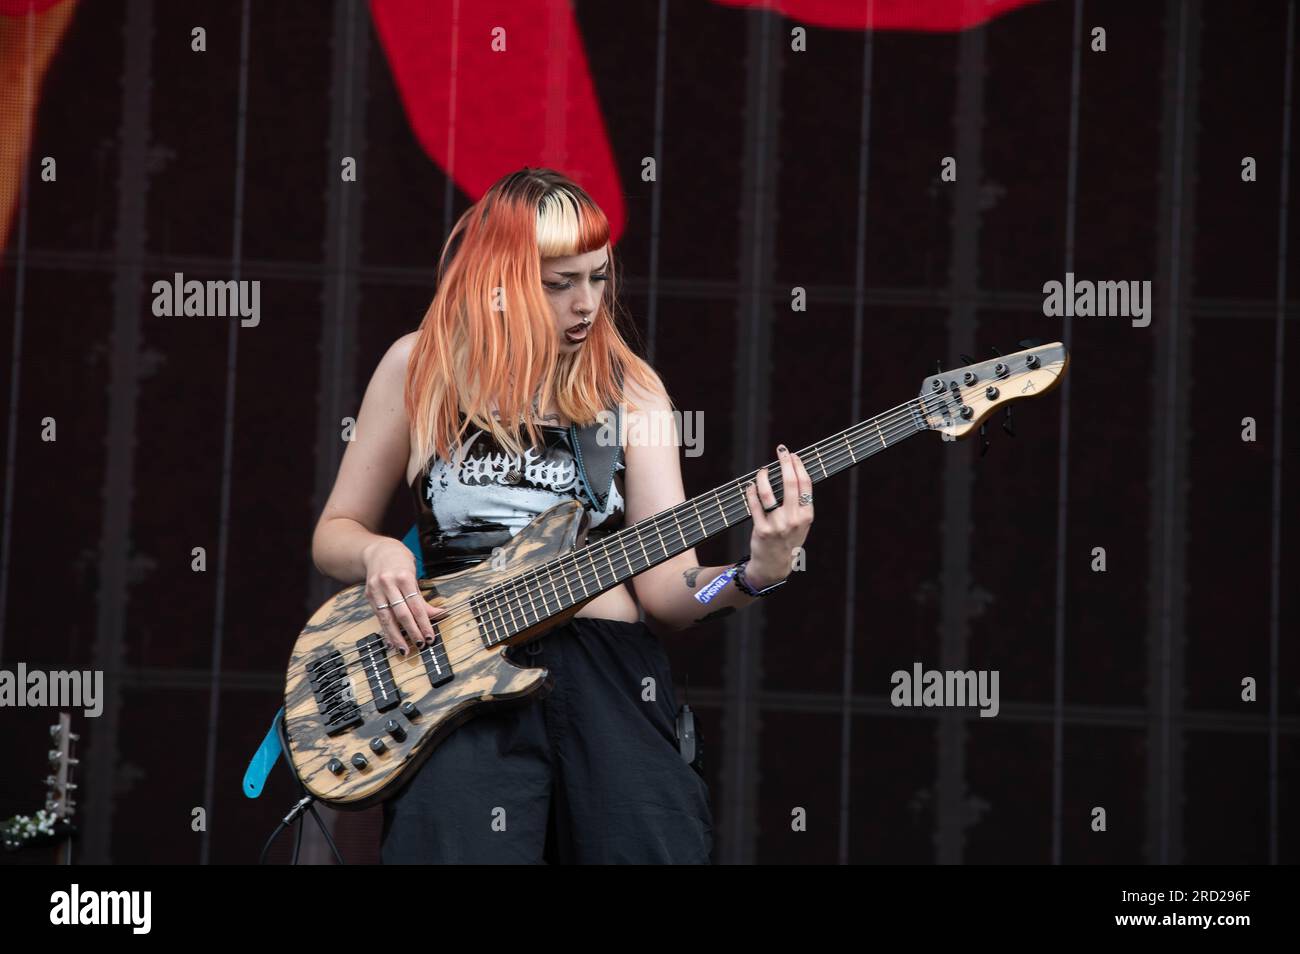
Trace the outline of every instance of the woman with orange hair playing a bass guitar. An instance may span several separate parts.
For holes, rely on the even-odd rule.
[[[321,572],[365,581],[395,651],[424,646],[443,615],[420,598],[413,554],[376,533],[398,481],[415,498],[425,577],[490,559],[567,499],[588,509],[588,542],[685,499],[672,429],[629,439],[595,499],[578,480],[569,422],[616,404],[627,434],[672,420],[659,376],[615,326],[614,265],[604,214],[550,169],[506,175],[452,229],[419,331],[367,387],[312,541]],[[789,574],[812,482],[784,446],[777,458],[790,493],[777,506],[758,469],[749,559],[707,606],[696,593],[732,567],[699,567],[688,550],[507,650],[550,669],[552,690],[471,719],[432,751],[384,803],[385,863],[710,860],[708,789],[677,750],[660,636],[745,608]]]

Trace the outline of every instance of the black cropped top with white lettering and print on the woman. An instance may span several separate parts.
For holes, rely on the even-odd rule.
[[[424,576],[443,576],[490,558],[494,547],[563,500],[586,507],[589,542],[625,525],[621,455],[606,507],[597,511],[581,491],[569,429],[542,424],[538,430],[542,446],[514,455],[489,432],[471,428],[459,467],[434,454],[411,481]],[[520,438],[526,442],[523,425]]]

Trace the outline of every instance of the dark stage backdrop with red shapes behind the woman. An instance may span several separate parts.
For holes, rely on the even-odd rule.
[[[342,421],[523,165],[620,224],[629,333],[705,429],[688,496],[936,361],[1071,350],[1014,439],[820,483],[807,568],[668,639],[718,862],[1300,860],[1295,4],[875,5],[0,5],[0,668],[104,673],[78,860],[250,862],[292,802],[239,785],[338,589]],[[176,273],[259,281],[259,322],[155,316]],[[1049,317],[1067,273],[1150,282],[1149,324]],[[997,716],[892,704],[915,663],[997,671]],[[52,715],[0,710],[0,818]],[[334,824],[377,858],[376,812]]]

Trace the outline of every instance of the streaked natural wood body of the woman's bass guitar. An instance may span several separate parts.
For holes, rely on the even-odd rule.
[[[491,633],[480,625],[471,600],[502,578],[569,552],[585,538],[586,525],[582,504],[567,500],[515,534],[495,560],[421,580],[426,600],[454,608],[433,621],[438,634],[434,646],[406,658],[373,638],[382,630],[364,584],[321,606],[294,645],[285,689],[289,754],[308,793],[337,808],[365,808],[393,794],[411,777],[410,769],[462,723],[488,708],[532,702],[550,691],[552,680],[545,668],[517,665],[506,658],[506,649],[563,625],[582,604],[491,645]],[[363,639],[369,647],[377,642],[378,649],[359,649]],[[308,672],[312,663],[317,671],[325,669],[315,685]],[[385,668],[391,672],[391,686],[387,681],[377,686],[376,677],[382,677]],[[393,689],[395,701],[387,698]],[[359,724],[330,734],[326,715],[343,715],[348,695]],[[404,703],[413,704],[415,712],[404,712]],[[391,730],[393,724],[399,732]],[[382,743],[381,750],[374,740]],[[354,763],[358,755],[364,766]],[[332,760],[337,760],[334,771]]]

